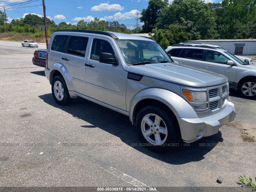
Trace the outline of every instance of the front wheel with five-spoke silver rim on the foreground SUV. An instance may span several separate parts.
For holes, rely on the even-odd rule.
[[[155,152],[167,152],[180,146],[180,128],[174,115],[157,106],[142,108],[136,117],[140,146]]]

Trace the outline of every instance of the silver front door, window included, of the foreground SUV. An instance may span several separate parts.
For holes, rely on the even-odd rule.
[[[121,64],[112,65],[99,62],[101,52],[116,56],[112,42],[106,38],[92,40],[92,46],[85,69],[85,84],[87,96],[126,110],[126,82],[128,72]],[[117,58],[118,60],[118,58]]]

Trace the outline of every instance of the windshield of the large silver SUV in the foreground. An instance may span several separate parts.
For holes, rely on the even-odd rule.
[[[118,39],[116,43],[128,65],[140,62],[173,62],[166,51],[154,41]]]

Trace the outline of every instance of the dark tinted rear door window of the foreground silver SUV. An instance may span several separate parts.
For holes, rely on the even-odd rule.
[[[68,53],[84,57],[87,43],[87,37],[71,37],[68,45]]]

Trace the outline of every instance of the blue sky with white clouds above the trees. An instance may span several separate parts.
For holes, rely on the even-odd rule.
[[[172,0],[169,0],[171,3]],[[220,2],[220,0],[205,0]],[[0,0],[0,10],[6,8],[8,22],[24,18],[26,14],[43,16],[42,0]],[[148,0],[45,0],[46,16],[56,24],[90,22],[95,17],[109,22],[118,21],[127,28],[134,28],[135,15],[148,6]],[[140,23],[139,21],[139,24]]]

